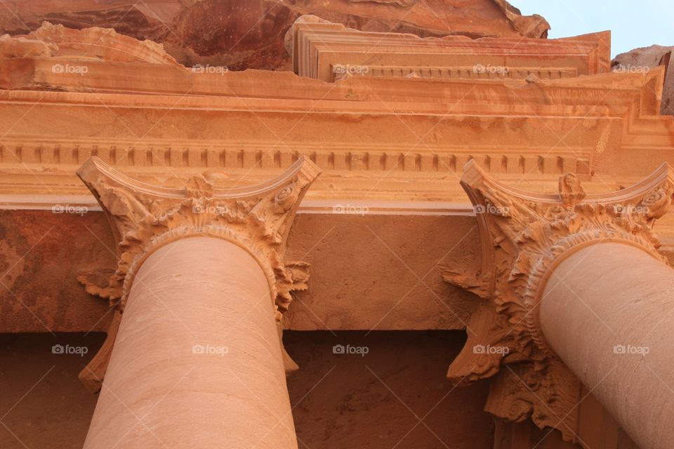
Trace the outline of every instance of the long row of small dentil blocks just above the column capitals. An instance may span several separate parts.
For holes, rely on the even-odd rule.
[[[81,165],[89,157],[97,156],[105,163],[124,167],[125,170],[278,170],[291,166],[298,156],[305,155],[319,168],[338,172],[389,172],[403,173],[450,173],[461,171],[469,159],[480,162],[489,173],[528,173],[536,170],[542,175],[560,175],[574,172],[590,174],[590,159],[593,148],[574,147],[574,150],[555,152],[546,156],[546,147],[509,145],[508,149],[496,151],[494,147],[475,145],[433,145],[410,152],[409,145],[372,145],[332,141],[293,142],[292,149],[270,149],[275,142],[190,142],[187,140],[143,140],[138,145],[133,139],[53,139],[44,137],[13,140],[4,138],[0,145],[0,167],[28,164],[48,165],[49,173],[59,170],[72,171],[73,165]],[[2,151],[4,150],[4,152]],[[454,178],[453,178],[454,179]],[[31,178],[34,181],[34,176]],[[1,184],[0,184],[1,186]]]

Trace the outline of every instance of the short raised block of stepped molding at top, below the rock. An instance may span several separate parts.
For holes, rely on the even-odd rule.
[[[386,1],[403,7],[402,2]],[[412,34],[352,29],[315,15],[303,15],[293,23],[284,43],[293,56],[296,74],[326,82],[342,79],[348,73],[354,76],[424,73],[429,78],[447,78],[447,72],[443,76],[440,69],[451,68],[455,68],[452,78],[463,79],[485,79],[490,74],[518,79],[517,72],[529,70],[540,72],[546,78],[561,78],[562,73],[577,76],[610,71],[609,33],[564,39],[524,38],[520,43],[522,40],[527,45],[525,53],[510,39],[466,39],[456,35],[420,38]],[[541,58],[545,59],[545,67],[538,67]],[[458,67],[468,70],[456,70]],[[437,70],[429,70],[431,68]],[[547,71],[557,73],[548,75]],[[508,72],[513,73],[509,76]],[[522,79],[526,76],[524,74]]]

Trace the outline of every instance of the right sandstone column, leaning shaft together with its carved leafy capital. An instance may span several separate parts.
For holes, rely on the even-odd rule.
[[[487,411],[581,445],[582,382],[640,447],[674,447],[674,270],[651,232],[670,207],[672,170],[594,195],[564,175],[550,195],[511,189],[468,163],[462,185],[482,264],[445,277],[484,301],[448,377],[493,376]]]

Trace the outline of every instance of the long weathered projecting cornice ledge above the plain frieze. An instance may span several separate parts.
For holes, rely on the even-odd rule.
[[[48,65],[48,60],[44,62]],[[100,67],[107,67],[100,62]],[[92,70],[95,69],[92,68]],[[126,69],[125,69],[126,70]],[[128,70],[132,70],[130,68]],[[138,69],[140,73],[147,71]],[[0,103],[33,103],[39,105],[93,105],[97,107],[134,107],[143,109],[298,112],[360,112],[378,114],[487,114],[555,116],[600,116],[606,107],[643,106],[641,96],[656,96],[658,87],[647,86],[656,72],[649,74],[609,73],[580,78],[538,80],[524,79],[423,79],[376,78],[352,76],[336,85],[303,79],[284,72],[251,71],[227,74],[213,83],[216,91],[204,90],[200,79],[183,79],[175,91],[134,92],[124,87],[124,79],[114,79],[110,86],[92,85],[71,88],[68,76],[62,76],[55,87],[64,91],[39,91],[32,88],[0,90]],[[181,79],[184,77],[180,71]],[[75,76],[75,75],[72,75]],[[171,74],[166,74],[171,79]],[[255,80],[255,84],[251,84]],[[75,82],[77,78],[74,78]],[[100,81],[103,83],[105,79]],[[153,79],[154,81],[154,79]],[[46,83],[47,80],[41,81]],[[177,82],[177,81],[176,81]],[[131,83],[133,85],[134,83]],[[137,84],[137,82],[136,82]],[[534,86],[531,86],[531,85]],[[279,91],[279,86],[288,91]],[[209,85],[210,86],[210,85]],[[264,86],[265,88],[263,88]],[[333,86],[333,87],[331,87]],[[661,88],[661,87],[660,87]],[[119,91],[119,92],[116,92]],[[401,95],[400,92],[406,95]],[[544,97],[541,91],[546,92]],[[608,94],[611,94],[610,96]],[[503,111],[495,105],[508,105]],[[567,109],[560,109],[567,107]],[[569,108],[570,107],[570,108]],[[648,107],[650,112],[652,107]],[[404,112],[402,112],[404,111]],[[654,112],[650,112],[654,114]],[[639,115],[639,114],[637,114]]]

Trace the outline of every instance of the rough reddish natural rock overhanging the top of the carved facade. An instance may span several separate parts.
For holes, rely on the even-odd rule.
[[[505,0],[8,0],[1,34],[28,34],[48,21],[74,29],[112,28],[163,43],[186,66],[291,69],[286,31],[303,14],[374,32],[543,38],[550,26]]]

